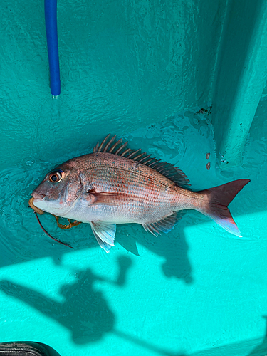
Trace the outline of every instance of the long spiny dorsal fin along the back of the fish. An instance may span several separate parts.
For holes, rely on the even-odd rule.
[[[112,155],[119,155],[122,157],[124,156],[126,158],[132,159],[133,161],[145,164],[147,167],[151,167],[152,169],[157,170],[159,173],[169,178],[172,182],[179,185],[179,187],[189,189],[191,186],[191,184],[189,184],[189,179],[184,174],[184,172],[181,171],[181,169],[174,167],[170,163],[160,162],[160,160],[157,160],[154,157],[150,157],[151,155],[147,155],[146,152],[142,153],[141,149],[131,150],[127,148],[128,142],[122,144],[122,139],[116,141],[116,135],[113,136],[110,140],[109,138],[110,134],[105,137],[100,145],[98,142],[94,147],[93,152],[108,152],[112,153]],[[111,145],[113,142],[115,143]]]

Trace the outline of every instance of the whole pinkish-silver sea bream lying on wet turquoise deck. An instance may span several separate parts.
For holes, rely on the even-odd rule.
[[[117,224],[142,224],[152,235],[171,231],[180,211],[194,209],[231,234],[240,231],[228,205],[250,179],[192,191],[181,169],[152,155],[127,148],[110,134],[93,153],[74,157],[46,174],[31,194],[36,208],[90,224],[107,253]]]

